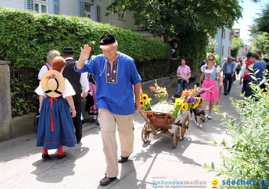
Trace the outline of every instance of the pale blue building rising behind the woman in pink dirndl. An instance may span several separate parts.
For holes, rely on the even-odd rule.
[[[231,55],[232,31],[226,27],[224,29],[220,28],[218,34],[212,38],[217,40],[218,43],[218,48],[215,49],[215,52],[220,56],[220,62],[217,62],[220,65],[224,58]]]

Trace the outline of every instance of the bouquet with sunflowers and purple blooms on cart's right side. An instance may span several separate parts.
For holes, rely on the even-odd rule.
[[[211,87],[210,87],[211,88]],[[180,111],[180,115],[183,111],[189,110],[190,108],[196,108],[201,102],[201,94],[206,92],[208,89],[202,89],[201,87],[194,86],[194,89],[184,90],[180,98],[175,99],[174,110],[171,112],[171,117],[176,119]]]

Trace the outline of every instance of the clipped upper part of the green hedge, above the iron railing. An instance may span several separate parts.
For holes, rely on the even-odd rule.
[[[114,35],[118,50],[137,62],[167,60],[170,56],[169,44],[81,17],[0,8],[0,30],[0,59],[10,61],[16,69],[39,70],[51,49],[73,47],[78,52],[74,58],[78,59],[80,47],[89,44],[92,55],[101,54],[99,39],[104,34]]]

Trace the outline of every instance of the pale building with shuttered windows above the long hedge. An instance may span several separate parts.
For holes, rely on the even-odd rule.
[[[126,30],[137,30],[133,12],[125,11],[118,14],[110,14],[106,10],[113,0],[0,0],[0,6],[21,10],[32,10],[37,13],[62,14],[67,16],[87,17],[95,22],[109,23]]]

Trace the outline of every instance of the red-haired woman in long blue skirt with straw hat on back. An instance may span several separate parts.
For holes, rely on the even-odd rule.
[[[43,159],[50,158],[48,149],[58,149],[58,159],[61,159],[66,156],[63,146],[75,147],[76,144],[72,122],[72,117],[76,116],[72,95],[76,93],[69,81],[60,74],[64,67],[65,59],[55,57],[52,60],[53,70],[44,73],[35,90],[41,104],[36,146],[43,147]],[[48,97],[44,99],[45,95]]]

